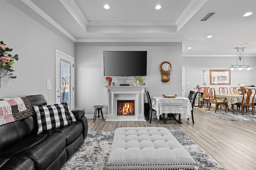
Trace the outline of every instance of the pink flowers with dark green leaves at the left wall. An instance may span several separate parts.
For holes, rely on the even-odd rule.
[[[10,78],[16,78],[16,76],[12,73],[14,70],[12,69],[14,60],[18,61],[18,55],[11,55],[12,49],[6,47],[3,41],[0,41],[0,70],[4,70],[3,73],[0,74],[0,78],[4,76],[10,76]]]

